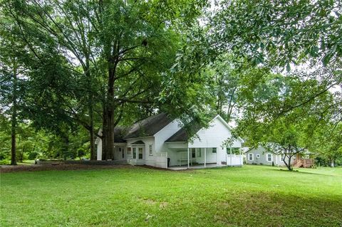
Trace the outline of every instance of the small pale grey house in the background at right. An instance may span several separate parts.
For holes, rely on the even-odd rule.
[[[268,151],[261,145],[256,149],[247,149],[244,153],[246,154],[247,164],[264,164],[269,166],[274,164],[279,167],[285,166],[284,154],[276,154],[275,152]],[[288,158],[286,157],[286,159]],[[296,157],[292,157],[291,164],[294,164],[295,159]]]

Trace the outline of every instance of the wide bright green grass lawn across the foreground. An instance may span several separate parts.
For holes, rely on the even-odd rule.
[[[0,226],[341,226],[342,168],[1,174]]]

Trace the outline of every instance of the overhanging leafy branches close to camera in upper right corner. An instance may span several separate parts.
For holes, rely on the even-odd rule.
[[[252,87],[265,80],[263,77],[269,75],[267,70],[290,71],[291,65],[305,63],[312,71],[321,65],[315,72],[321,74],[316,78],[322,81],[321,87],[314,85],[314,89],[295,97],[296,102],[284,102],[281,114],[311,102],[330,88],[341,87],[340,1],[234,0],[217,4],[219,7],[207,11],[202,25],[193,26],[188,32],[187,44],[177,58],[178,65],[187,68],[189,74],[200,74],[227,53],[232,58],[224,61],[226,65],[247,58],[258,68],[266,69],[261,76],[260,71],[254,72],[246,80],[241,78],[243,73],[238,74],[244,80],[242,85],[247,83]],[[321,73],[322,70],[330,73]],[[298,80],[306,80],[307,73],[297,76]],[[250,95],[239,96],[248,99]],[[339,109],[338,105],[330,108],[333,110],[329,111]],[[274,117],[278,114],[274,113]]]

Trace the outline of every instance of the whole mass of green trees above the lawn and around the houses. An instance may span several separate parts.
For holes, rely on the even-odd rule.
[[[1,164],[95,159],[95,137],[113,159],[114,127],[159,112],[342,164],[341,1],[0,3]]]

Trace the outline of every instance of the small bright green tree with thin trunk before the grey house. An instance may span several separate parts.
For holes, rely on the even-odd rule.
[[[248,138],[249,146],[261,143],[284,154],[285,164],[291,170],[291,158],[310,147],[312,134],[331,117],[327,110],[331,110],[334,96],[324,83],[312,78],[302,81],[296,75],[261,76],[261,82],[254,89],[248,84],[246,88],[249,95],[245,96],[244,112],[239,120],[240,134]],[[296,97],[308,97],[312,90],[320,90],[321,95],[289,108],[298,101]]]

